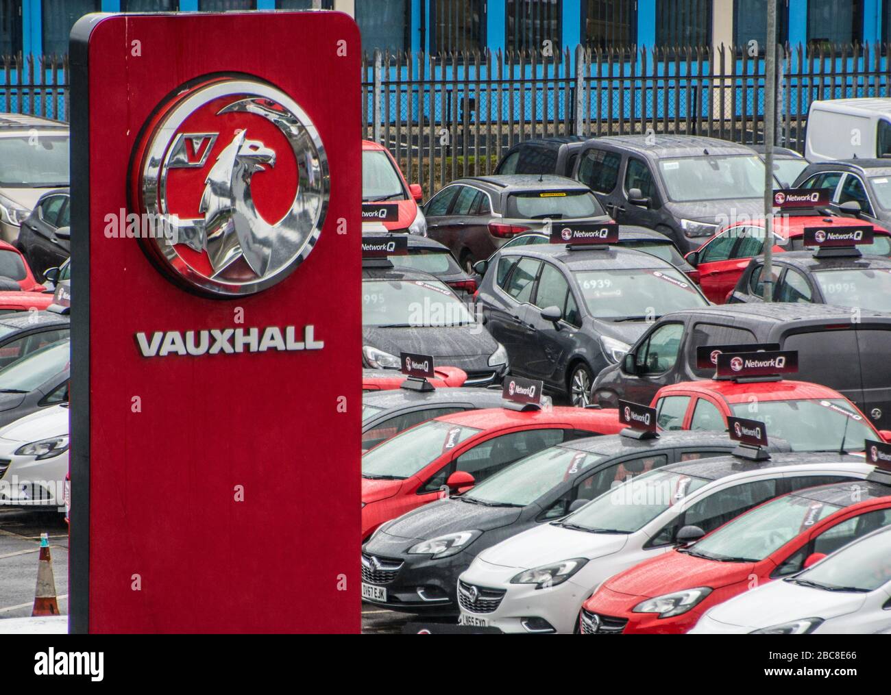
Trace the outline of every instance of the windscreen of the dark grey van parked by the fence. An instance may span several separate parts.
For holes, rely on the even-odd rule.
[[[659,171],[678,203],[764,196],[764,162],[754,154],[660,159]]]

